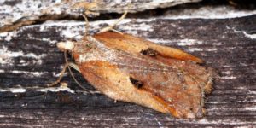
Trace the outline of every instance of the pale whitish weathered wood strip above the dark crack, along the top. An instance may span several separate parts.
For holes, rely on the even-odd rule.
[[[63,17],[88,16],[98,13],[135,13],[147,9],[166,8],[182,3],[195,3],[201,0],[1,0],[0,32],[30,25],[36,21],[54,20]]]

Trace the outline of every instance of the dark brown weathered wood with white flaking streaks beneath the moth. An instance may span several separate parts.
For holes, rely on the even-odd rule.
[[[90,22],[90,32],[113,20]],[[256,15],[234,19],[126,19],[121,32],[183,49],[220,74],[203,119],[175,119],[101,94],[89,95],[67,74],[68,87],[46,88],[64,64],[55,44],[81,38],[84,21],[49,21],[0,33],[1,127],[235,127],[256,125]],[[74,71],[75,72],[75,71]],[[92,89],[82,76],[76,78]]]

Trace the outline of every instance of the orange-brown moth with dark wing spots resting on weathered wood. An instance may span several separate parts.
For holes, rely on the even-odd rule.
[[[177,118],[197,119],[205,113],[204,96],[212,90],[215,73],[180,49],[118,32],[84,36],[58,48],[68,50],[84,78],[114,100]]]

